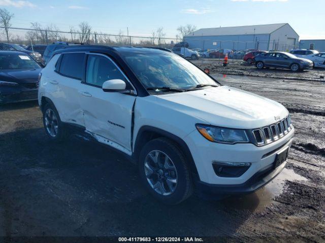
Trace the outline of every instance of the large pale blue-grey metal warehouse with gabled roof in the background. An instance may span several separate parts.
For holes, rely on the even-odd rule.
[[[288,51],[299,47],[299,35],[289,24],[203,28],[184,37],[189,48]]]

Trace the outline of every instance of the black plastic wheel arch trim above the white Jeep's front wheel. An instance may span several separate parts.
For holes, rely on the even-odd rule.
[[[191,170],[191,174],[194,175],[194,178],[198,178],[199,174],[198,174],[197,167],[194,163],[192,154],[185,141],[180,137],[159,128],[155,128],[151,126],[143,126],[139,129],[137,138],[135,140],[134,153],[133,153],[134,159],[138,162],[142,147],[150,140],[155,138],[160,138],[160,137],[168,138],[174,141],[179,146],[179,148],[182,150],[182,152],[185,155],[186,161],[188,162],[188,166]]]

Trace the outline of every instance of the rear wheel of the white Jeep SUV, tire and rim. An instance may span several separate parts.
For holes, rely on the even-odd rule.
[[[47,103],[43,109],[43,125],[47,136],[54,142],[62,142],[67,138],[67,129],[60,120],[54,105]]]

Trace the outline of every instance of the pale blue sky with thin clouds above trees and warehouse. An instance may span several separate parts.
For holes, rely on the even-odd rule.
[[[301,38],[325,38],[325,0],[0,0],[15,14],[13,27],[30,22],[69,30],[87,21],[95,31],[150,35],[164,27],[175,37],[179,25],[197,28],[289,23]]]

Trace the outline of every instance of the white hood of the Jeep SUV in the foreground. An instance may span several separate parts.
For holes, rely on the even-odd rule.
[[[159,95],[157,100],[201,119],[202,123],[229,128],[259,128],[288,114],[275,101],[228,86]]]

